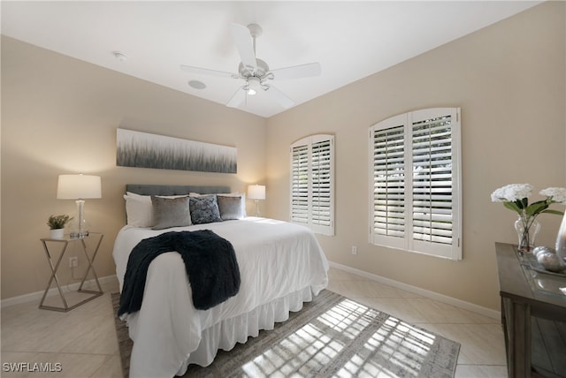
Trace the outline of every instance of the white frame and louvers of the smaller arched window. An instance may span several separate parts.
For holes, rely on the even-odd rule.
[[[328,175],[327,179],[321,180],[322,184],[318,185],[319,191],[313,190],[313,177],[315,176],[315,172],[317,171],[315,167],[315,159],[313,158],[313,147],[321,145],[323,143],[328,143],[328,160],[323,161],[323,164],[328,166],[328,169],[325,170],[325,174]],[[295,169],[294,169],[294,150],[295,148],[307,148],[307,185],[306,185],[306,197],[303,200],[302,208],[297,206],[297,210],[295,210]],[[291,144],[290,148],[290,172],[289,172],[289,220],[291,223],[302,224],[310,228],[311,231],[322,234],[326,236],[333,236],[334,235],[334,136],[331,134],[316,134],[310,135],[308,137],[302,138],[301,140],[296,140],[294,143]],[[325,150],[323,150],[323,153]],[[327,185],[327,186],[326,186]],[[302,186],[302,192],[304,193],[305,186]],[[314,193],[325,193],[327,190],[328,195],[313,195]],[[316,214],[314,211],[316,206],[316,199],[322,199],[320,201],[328,204],[328,214],[321,215]],[[306,207],[306,210],[304,209]],[[322,210],[324,212],[324,206]],[[294,216],[294,214],[302,212],[304,215],[302,219],[304,222],[299,222],[298,219],[300,218],[299,215]],[[327,223],[327,224],[324,224]]]

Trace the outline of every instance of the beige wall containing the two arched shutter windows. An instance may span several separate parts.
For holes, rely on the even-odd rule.
[[[516,242],[516,215],[492,203],[490,194],[511,183],[530,183],[537,193],[566,186],[564,19],[563,2],[541,4],[270,118],[269,214],[288,219],[289,145],[333,133],[336,235],[319,238],[328,258],[498,309],[493,243]],[[463,261],[371,246],[369,127],[409,110],[445,106],[462,108]],[[553,246],[560,217],[539,221],[539,243]],[[358,247],[356,256],[351,246]]]

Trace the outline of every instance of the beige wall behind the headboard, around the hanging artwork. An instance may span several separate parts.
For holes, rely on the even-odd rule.
[[[73,200],[56,199],[57,175],[102,177],[103,198],[87,200],[85,210],[91,229],[105,234],[98,275],[111,276],[112,244],[125,220],[124,185],[230,185],[244,191],[249,183],[263,183],[265,122],[3,37],[2,298],[42,291],[50,277],[39,240],[49,233],[45,223],[51,214],[75,212]],[[237,147],[238,173],[117,167],[118,127]],[[64,264],[62,283],[76,282]]]

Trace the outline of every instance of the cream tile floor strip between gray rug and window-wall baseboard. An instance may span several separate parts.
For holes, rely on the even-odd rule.
[[[458,378],[507,377],[499,320],[334,268],[328,289],[462,344]]]

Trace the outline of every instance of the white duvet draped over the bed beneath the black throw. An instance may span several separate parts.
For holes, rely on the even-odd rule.
[[[328,283],[328,262],[309,229],[293,223],[249,217],[162,231],[124,227],[119,231],[113,251],[120,291],[129,253],[140,240],[166,231],[196,230],[211,230],[230,240],[240,266],[240,292],[209,310],[196,310],[180,254],[172,252],[159,255],[149,265],[142,309],[134,314],[123,315],[130,337],[134,340],[130,360],[131,377],[183,374],[191,353],[199,349],[203,331],[208,331],[209,336],[216,334],[217,329],[221,329],[219,333],[232,332],[234,335],[213,337],[226,338],[229,341],[224,344],[232,347],[235,341],[241,341],[239,339],[244,334],[249,336],[255,333],[254,326],[248,324],[250,317],[273,318],[273,314],[265,313],[280,312],[279,307],[285,307],[285,311],[288,308],[296,310],[299,305],[289,306],[289,300],[299,300],[302,304],[302,300],[308,300],[310,294],[317,295]],[[305,291],[308,291],[307,294]],[[281,302],[285,302],[285,306],[281,306]],[[272,306],[277,309],[263,306],[268,303],[275,304]],[[246,313],[249,314],[243,315]],[[284,320],[279,319],[280,315],[275,315],[275,318],[275,321]],[[221,322],[224,322],[223,325],[232,322],[235,330],[227,330],[219,325]],[[238,329],[239,326],[234,325],[236,322],[241,325],[240,328],[247,327],[249,330]],[[253,322],[260,329],[272,323],[262,319],[254,319]],[[235,335],[238,333],[242,335]],[[207,339],[206,343],[210,344],[210,340]],[[216,340],[216,344],[222,346],[223,342]],[[199,351],[203,346],[206,345],[201,345]],[[205,358],[196,360],[208,364],[212,357],[209,352]]]

